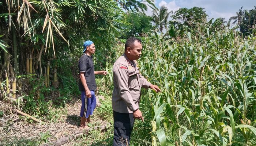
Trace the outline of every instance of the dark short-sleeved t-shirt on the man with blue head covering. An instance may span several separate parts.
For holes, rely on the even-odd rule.
[[[79,73],[84,72],[86,84],[90,91],[96,90],[97,85],[95,82],[95,74],[93,67],[93,58],[86,54],[83,54],[78,62]],[[79,91],[84,91],[81,79],[79,79]]]

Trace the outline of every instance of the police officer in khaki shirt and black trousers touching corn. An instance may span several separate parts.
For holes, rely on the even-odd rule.
[[[124,51],[113,66],[113,146],[129,145],[134,119],[141,119],[144,122],[142,112],[139,110],[141,87],[151,88],[156,92],[161,91],[140,74],[136,65],[136,60],[142,54],[140,39],[128,38]]]

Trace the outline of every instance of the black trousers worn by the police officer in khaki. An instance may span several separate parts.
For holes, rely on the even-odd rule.
[[[133,114],[124,114],[113,111],[114,140],[113,146],[128,146],[134,124]]]

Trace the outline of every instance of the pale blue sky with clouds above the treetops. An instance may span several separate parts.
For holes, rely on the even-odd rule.
[[[231,16],[236,16],[236,12],[243,9],[254,9],[256,0],[155,0],[155,6],[165,5],[169,11],[177,11],[179,8],[202,7],[205,8],[208,20],[211,18],[225,18],[229,20]],[[152,15],[152,9],[148,7],[147,15]]]

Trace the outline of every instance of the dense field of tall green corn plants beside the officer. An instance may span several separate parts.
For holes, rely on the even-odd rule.
[[[145,38],[140,72],[153,98],[152,145],[256,145],[256,37],[224,29]]]

